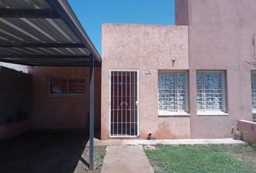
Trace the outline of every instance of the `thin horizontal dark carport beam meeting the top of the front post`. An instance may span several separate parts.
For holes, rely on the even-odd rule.
[[[90,59],[90,56],[66,56],[66,55],[1,55],[0,58],[39,58],[39,59]]]

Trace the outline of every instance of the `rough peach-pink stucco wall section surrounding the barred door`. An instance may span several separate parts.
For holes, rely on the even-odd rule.
[[[190,138],[189,117],[158,116],[158,70],[189,69],[187,26],[103,24],[102,139],[109,135],[110,69],[139,70],[140,138]]]

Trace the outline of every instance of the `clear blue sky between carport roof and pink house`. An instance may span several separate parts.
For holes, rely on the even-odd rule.
[[[68,0],[101,54],[101,24],[174,25],[175,0]]]

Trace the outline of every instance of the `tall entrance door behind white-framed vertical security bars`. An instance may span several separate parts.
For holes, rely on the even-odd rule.
[[[111,71],[111,137],[138,136],[137,71]]]

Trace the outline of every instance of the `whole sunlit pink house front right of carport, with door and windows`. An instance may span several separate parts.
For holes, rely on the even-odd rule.
[[[101,138],[231,138],[256,119],[256,1],[176,0],[176,25],[102,25]]]

